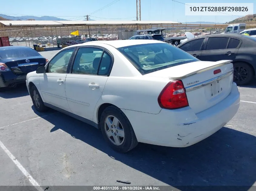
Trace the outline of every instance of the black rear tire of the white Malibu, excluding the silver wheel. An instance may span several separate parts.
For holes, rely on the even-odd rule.
[[[123,129],[125,132],[125,140],[121,145],[114,145],[108,139],[108,136],[105,132],[105,119],[109,115],[117,117],[123,126]],[[102,135],[103,135],[105,141],[108,142],[110,147],[113,148],[115,151],[125,153],[125,152],[128,152],[131,149],[135,148],[138,145],[138,141],[137,141],[137,138],[135,136],[135,133],[133,131],[130,121],[125,116],[125,114],[119,108],[117,108],[115,106],[109,106],[102,112],[101,118],[100,118],[100,127],[101,127],[101,132],[102,132]]]

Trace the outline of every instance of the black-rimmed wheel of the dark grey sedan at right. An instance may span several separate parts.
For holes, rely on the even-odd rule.
[[[246,85],[253,78],[253,68],[244,62],[236,62],[234,66],[234,82],[237,85]]]

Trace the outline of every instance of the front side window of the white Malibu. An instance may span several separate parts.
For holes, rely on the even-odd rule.
[[[67,73],[68,63],[74,49],[66,49],[58,53],[48,64],[48,73]]]

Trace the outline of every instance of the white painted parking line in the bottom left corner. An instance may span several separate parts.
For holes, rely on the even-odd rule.
[[[5,145],[0,141],[0,146],[5,151],[5,153],[12,159],[14,164],[22,171],[25,177],[29,180],[29,182],[35,186],[38,191],[43,191],[40,185],[35,181],[35,179],[28,173],[28,171],[19,163],[19,161],[13,156],[13,154],[5,147]]]

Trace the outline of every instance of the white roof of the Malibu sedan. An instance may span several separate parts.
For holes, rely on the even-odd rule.
[[[150,43],[165,43],[161,42],[159,40],[98,40],[98,41],[92,41],[82,44],[75,44],[68,47],[76,47],[76,46],[101,46],[101,44],[108,44],[110,46],[113,46],[115,48],[120,48],[124,46],[132,46],[132,45],[138,45],[138,44],[150,44]],[[68,48],[65,47],[64,49]]]

